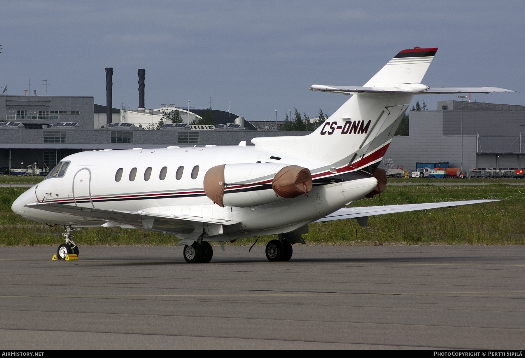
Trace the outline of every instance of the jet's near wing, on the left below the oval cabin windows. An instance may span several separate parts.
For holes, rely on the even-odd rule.
[[[153,229],[170,234],[189,235],[194,230],[201,229],[207,226],[220,224],[236,224],[232,220],[213,219],[209,217],[198,216],[174,216],[161,215],[146,212],[128,212],[125,210],[106,210],[97,208],[86,208],[81,206],[73,206],[59,203],[31,203],[27,207],[46,210],[49,212],[72,214],[91,219],[98,219],[106,221],[102,225],[105,227],[121,226],[124,228],[131,228],[126,226],[133,226],[134,228],[143,227],[144,229]]]

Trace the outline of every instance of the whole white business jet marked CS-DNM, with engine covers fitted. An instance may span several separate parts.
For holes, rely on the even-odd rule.
[[[308,224],[490,202],[345,208],[380,194],[377,169],[415,94],[513,92],[495,87],[430,88],[421,83],[437,48],[399,52],[364,86],[313,85],[353,96],[316,131],[255,138],[254,146],[195,146],[81,152],[61,160],[13,203],[18,215],[64,225],[58,257],[78,255],[73,233],[86,227],[173,234],[187,262],[209,262],[212,241],[278,235],[270,261],[287,261]]]

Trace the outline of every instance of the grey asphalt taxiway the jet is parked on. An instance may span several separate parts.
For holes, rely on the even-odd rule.
[[[0,248],[3,349],[522,349],[523,246]]]

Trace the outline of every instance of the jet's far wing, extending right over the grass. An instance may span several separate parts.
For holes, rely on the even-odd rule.
[[[423,204],[401,204],[401,205],[381,205],[381,206],[363,206],[363,207],[344,207],[333,212],[319,220],[314,221],[314,223],[325,223],[333,220],[343,220],[343,219],[358,219],[359,225],[365,223],[366,218],[369,216],[375,215],[384,215],[384,214],[394,214],[394,213],[403,213],[403,212],[414,212],[416,210],[426,210],[426,209],[435,209],[439,207],[456,207],[458,205],[468,205],[468,204],[480,204],[480,203],[490,203],[490,202],[499,202],[499,200],[466,200],[460,202],[442,202],[442,203],[423,203]],[[359,218],[362,218],[359,220]],[[365,226],[361,225],[361,226]]]

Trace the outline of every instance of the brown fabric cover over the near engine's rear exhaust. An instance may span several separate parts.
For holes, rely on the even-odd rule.
[[[298,165],[283,167],[271,182],[274,192],[283,198],[295,198],[312,189],[312,174],[308,168]]]

